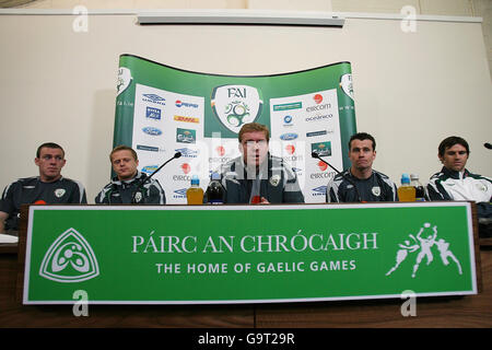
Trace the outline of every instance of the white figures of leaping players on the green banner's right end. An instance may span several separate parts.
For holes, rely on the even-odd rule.
[[[461,265],[459,260],[455,257],[452,250],[449,250],[449,243],[443,238],[437,240],[437,226],[431,229],[430,223],[424,223],[423,228],[420,229],[417,237],[409,234],[410,240],[406,240],[403,244],[399,244],[399,249],[396,256],[396,265],[386,272],[386,276],[395,272],[399,268],[400,264],[403,262],[408,257],[413,254],[415,257],[415,262],[413,265],[412,278],[415,278],[417,271],[419,270],[420,264],[426,258],[426,265],[431,265],[434,261],[434,254],[438,253],[441,261],[444,266],[449,265],[449,259],[452,259],[459,275],[462,275]],[[438,260],[437,260],[438,261]]]

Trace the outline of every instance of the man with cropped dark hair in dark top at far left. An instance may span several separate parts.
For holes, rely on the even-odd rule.
[[[3,190],[0,200],[0,233],[19,231],[21,205],[27,203],[86,203],[81,183],[61,176],[67,163],[63,149],[47,142],[37,148],[34,163],[39,176],[20,178]]]

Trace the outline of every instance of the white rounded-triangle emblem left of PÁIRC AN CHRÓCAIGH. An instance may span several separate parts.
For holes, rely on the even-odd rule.
[[[39,276],[61,283],[82,282],[98,275],[91,245],[74,229],[67,230],[51,244],[39,269]]]

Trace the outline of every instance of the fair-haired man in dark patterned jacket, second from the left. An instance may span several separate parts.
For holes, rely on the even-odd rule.
[[[165,205],[164,189],[155,178],[147,179],[147,174],[137,170],[137,152],[127,145],[118,145],[109,154],[116,176],[95,198],[101,205]]]

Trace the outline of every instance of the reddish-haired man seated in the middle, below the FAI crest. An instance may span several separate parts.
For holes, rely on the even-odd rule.
[[[302,203],[297,175],[268,152],[270,132],[261,124],[245,124],[238,135],[241,156],[222,166],[224,203]]]

